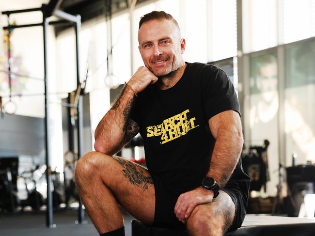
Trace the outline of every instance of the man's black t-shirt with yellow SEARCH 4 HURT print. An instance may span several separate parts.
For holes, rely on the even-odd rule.
[[[152,84],[139,93],[130,118],[140,127],[149,172],[173,192],[200,186],[215,143],[208,121],[225,110],[240,113],[233,84],[223,70],[204,63],[187,63],[170,89]],[[228,185],[248,192],[248,182],[238,163]]]

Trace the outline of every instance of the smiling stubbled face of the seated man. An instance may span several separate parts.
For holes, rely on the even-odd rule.
[[[167,19],[142,24],[138,32],[139,50],[144,65],[156,76],[165,76],[183,65],[185,39],[178,27]]]

